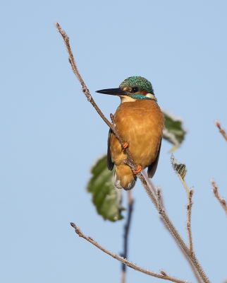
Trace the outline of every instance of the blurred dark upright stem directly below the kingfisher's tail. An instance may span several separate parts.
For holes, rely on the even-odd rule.
[[[123,258],[128,258],[128,232],[130,229],[130,223],[131,223],[131,219],[132,219],[132,212],[133,212],[133,204],[134,204],[134,199],[131,196],[131,191],[128,190],[127,191],[127,195],[128,195],[128,218],[127,218],[127,222],[125,224],[125,233],[124,233],[124,243],[123,243]],[[126,265],[124,263],[122,263],[122,267],[121,267],[121,283],[125,283],[125,272],[126,272]]]

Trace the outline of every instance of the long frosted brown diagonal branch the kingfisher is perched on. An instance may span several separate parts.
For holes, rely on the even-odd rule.
[[[76,64],[75,64],[75,61],[74,61],[74,58],[73,58],[73,53],[71,52],[71,49],[70,49],[68,35],[66,35],[66,32],[61,29],[61,26],[59,25],[59,23],[55,23],[55,26],[58,29],[58,31],[61,34],[61,36],[63,37],[63,40],[64,40],[64,42],[66,44],[66,49],[68,50],[70,65],[71,65],[71,67],[73,69],[74,74],[77,76],[78,80],[80,81],[80,83],[82,85],[82,91],[85,93],[85,96],[87,97],[87,100],[89,100],[90,103],[92,103],[92,105],[97,110],[99,115],[102,117],[104,122],[106,122],[106,124],[111,128],[112,132],[114,132],[114,134],[116,135],[116,138],[120,142],[121,146],[123,146],[124,141],[121,139],[120,135],[118,134],[118,131],[117,131],[116,127],[114,127],[114,124],[115,124],[114,117],[113,117],[112,124],[111,124],[106,119],[106,117],[103,115],[102,111],[98,108],[97,104],[94,102],[92,96],[90,95],[90,91],[88,90],[87,86],[85,85],[85,82],[82,80],[82,78],[80,76],[80,73],[79,73],[79,71],[78,71],[78,69],[76,67]],[[128,156],[128,160],[127,160],[128,165],[130,166],[130,168],[132,168],[132,170],[135,170],[137,168],[137,164],[135,164],[135,162],[133,161],[133,158],[132,158],[132,156],[130,154],[130,151],[128,149],[125,149],[125,154]],[[147,182],[146,182],[144,176],[142,175],[142,173],[138,173],[137,177],[140,179],[140,181],[142,183],[142,186],[145,188],[145,191],[147,192],[147,195],[149,196],[150,200],[152,200],[152,203],[154,204],[154,207],[156,209],[158,209],[157,198],[155,197],[155,195],[152,192],[152,190],[149,188],[149,185],[147,185]],[[163,217],[163,219],[164,219],[164,221],[166,223],[166,226],[168,226],[168,229],[170,229],[171,233],[176,238],[176,241],[178,241],[178,244],[179,244],[180,248],[183,249],[185,255],[188,256],[188,258],[190,259],[192,264],[195,266],[195,269],[197,270],[197,272],[200,275],[200,277],[202,278],[202,280],[205,283],[209,283],[210,281],[209,281],[207,275],[204,273],[204,270],[202,269],[202,267],[201,267],[200,263],[198,262],[197,258],[195,258],[195,255],[191,255],[190,250],[186,246],[185,242],[183,241],[183,239],[181,238],[180,234],[176,230],[175,226],[173,226],[171,220],[168,218],[168,215],[166,214],[166,212],[163,209],[161,210],[161,216]],[[83,237],[83,238],[85,238],[85,237]],[[92,241],[91,241],[91,243],[92,243]],[[94,245],[94,246],[96,246],[96,245]],[[103,250],[102,247],[100,249]],[[109,254],[111,255],[111,253],[109,253]],[[111,256],[113,256],[113,255],[111,255]],[[128,266],[130,266],[130,265],[128,265]]]

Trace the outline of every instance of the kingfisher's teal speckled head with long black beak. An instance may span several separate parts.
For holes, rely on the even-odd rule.
[[[144,99],[157,101],[157,98],[154,96],[152,83],[142,76],[130,76],[120,84],[119,88],[102,89],[96,92],[119,96],[121,103]]]

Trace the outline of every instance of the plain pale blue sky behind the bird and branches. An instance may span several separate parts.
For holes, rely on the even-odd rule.
[[[226,15],[226,1],[1,1],[0,282],[120,282],[121,264],[69,224],[121,253],[125,222],[104,221],[85,191],[108,128],[80,91],[55,21],[107,117],[119,99],[94,91],[145,76],[161,108],[185,120],[175,156],[195,187],[195,252],[211,282],[226,279],[227,219],[209,184],[215,178],[227,198],[227,144],[214,125],[227,129]],[[170,149],[164,141],[153,180],[187,241],[187,199]],[[139,182],[133,197],[128,259],[195,282]],[[161,282],[127,270],[127,282]]]

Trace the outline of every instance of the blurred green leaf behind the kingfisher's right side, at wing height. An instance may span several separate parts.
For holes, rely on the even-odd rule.
[[[173,144],[171,149],[171,152],[173,152],[182,144],[186,131],[183,128],[183,121],[179,117],[173,117],[164,110],[162,112],[166,118],[163,138]]]

